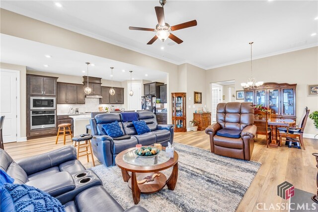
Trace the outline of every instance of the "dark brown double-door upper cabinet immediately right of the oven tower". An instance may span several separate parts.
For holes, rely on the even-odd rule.
[[[58,104],[76,104],[77,100],[77,85],[58,83]]]

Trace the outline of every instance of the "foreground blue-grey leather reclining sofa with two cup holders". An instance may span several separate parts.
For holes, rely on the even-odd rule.
[[[73,145],[17,163],[6,151],[0,149],[0,169],[14,179],[14,184],[33,186],[57,198],[66,212],[125,211],[102,187],[98,176],[93,171],[86,170],[77,160]],[[125,212],[147,210],[134,206]]]

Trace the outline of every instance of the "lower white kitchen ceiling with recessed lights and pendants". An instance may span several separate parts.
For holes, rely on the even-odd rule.
[[[166,77],[166,73],[162,71],[149,70],[22,38],[4,34],[0,34],[0,38],[0,62],[27,66],[29,70],[83,76],[87,74],[85,62],[90,62],[94,66],[88,67],[89,76],[103,79],[111,79],[110,67],[114,67],[113,80],[115,81],[129,80],[129,71],[133,71],[134,79],[158,80]],[[46,55],[52,57],[46,58]],[[49,67],[44,67],[44,65]]]

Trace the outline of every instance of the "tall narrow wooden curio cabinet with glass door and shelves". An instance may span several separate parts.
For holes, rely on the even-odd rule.
[[[171,93],[174,132],[186,132],[186,93]]]

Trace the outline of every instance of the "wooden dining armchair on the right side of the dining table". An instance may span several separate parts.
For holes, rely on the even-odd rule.
[[[300,142],[304,150],[306,150],[303,136],[304,136],[304,130],[306,127],[309,112],[310,110],[308,109],[308,107],[306,107],[304,109],[304,113],[298,125],[292,126],[289,128],[280,127],[277,129],[279,131],[279,138],[281,141],[280,145],[282,145],[282,138],[285,138],[286,142],[289,142],[288,147],[292,147],[293,142],[296,142],[296,146],[300,148],[300,145],[299,145],[299,142]]]

